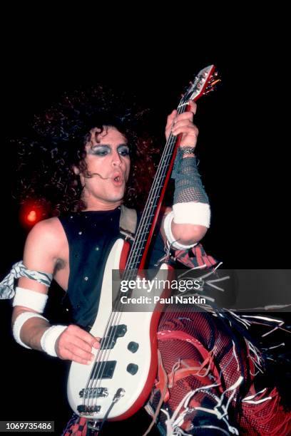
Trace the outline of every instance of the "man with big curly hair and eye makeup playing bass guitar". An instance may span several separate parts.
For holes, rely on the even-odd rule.
[[[107,93],[106,97],[102,88],[96,88],[88,94],[65,96],[62,105],[36,118],[29,147],[20,144],[24,166],[21,176],[26,172],[23,197],[46,199],[61,214],[36,224],[26,240],[24,261],[15,274],[20,278],[14,298],[14,338],[26,348],[83,365],[91,363],[92,348],[100,346],[100,338],[86,328],[102,310],[98,308],[101,273],[106,250],[119,234],[126,184],[130,174],[138,185],[138,177],[145,180],[142,173],[151,171],[147,141],[138,141],[134,133],[137,124],[131,122],[139,119],[141,123],[141,113],[132,116],[123,108],[118,116],[113,114],[112,108],[121,103],[112,95]],[[174,110],[168,116],[165,137],[172,132],[182,135],[182,140],[175,162],[173,210],[167,209],[162,219],[161,237],[155,238],[150,254],[151,264],[164,254],[164,244],[170,244],[176,252],[193,248],[210,224],[208,197],[195,162],[195,110],[195,103],[190,103],[190,112],[178,115]],[[31,160],[31,149],[39,161]],[[139,157],[132,172],[131,154]],[[25,164],[24,155],[29,157]],[[129,192],[132,189],[128,187]],[[41,315],[52,277],[71,301],[73,322],[69,326],[51,326]],[[235,320],[232,323],[235,326]],[[164,313],[158,339],[162,362],[148,412],[153,420],[158,417],[160,432],[199,434],[208,429],[208,434],[216,430],[238,434],[230,425],[228,409],[238,405],[240,384],[248,378],[247,346],[240,348],[240,339],[224,320],[201,312],[183,316]],[[260,364],[254,356],[251,362]],[[220,412],[218,404],[230,396],[231,405],[229,400]],[[250,425],[253,411],[244,406],[240,413],[242,427]],[[285,417],[281,421],[287,425]],[[68,430],[68,434],[75,430]]]

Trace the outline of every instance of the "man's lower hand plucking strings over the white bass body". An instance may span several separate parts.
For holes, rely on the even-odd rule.
[[[100,348],[100,338],[95,338],[87,331],[71,324],[61,333],[56,341],[56,354],[63,360],[90,365],[94,355],[92,347]]]

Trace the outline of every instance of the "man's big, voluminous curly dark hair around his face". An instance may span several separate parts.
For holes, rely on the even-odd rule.
[[[18,186],[21,203],[46,205],[50,215],[81,211],[82,187],[73,167],[86,171],[85,143],[92,128],[117,128],[131,150],[131,175],[124,202],[141,209],[155,174],[159,150],[148,134],[149,110],[141,109],[131,96],[116,93],[106,85],[78,88],[64,93],[59,103],[34,115],[29,133],[18,145]],[[142,162],[142,164],[141,164]]]

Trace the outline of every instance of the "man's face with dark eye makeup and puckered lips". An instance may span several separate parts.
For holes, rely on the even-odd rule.
[[[128,180],[131,160],[126,137],[116,128],[91,130],[86,144],[86,163],[89,175],[80,175],[82,198],[87,210],[115,209],[121,204]]]

